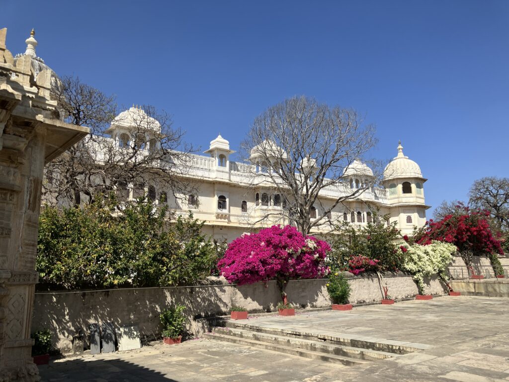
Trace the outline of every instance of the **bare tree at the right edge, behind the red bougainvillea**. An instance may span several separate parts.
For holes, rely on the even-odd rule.
[[[509,178],[487,176],[470,187],[469,204],[490,212],[498,229],[509,229]]]

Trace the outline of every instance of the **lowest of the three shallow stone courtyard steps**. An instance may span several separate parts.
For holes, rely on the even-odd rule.
[[[335,354],[326,354],[320,351],[305,350],[297,347],[277,345],[273,343],[260,342],[255,340],[249,340],[245,338],[239,338],[235,336],[228,336],[219,333],[205,333],[204,338],[216,341],[227,341],[239,345],[256,347],[264,350],[272,350],[280,353],[290,354],[292,356],[310,358],[317,361],[331,362],[335,364],[342,364],[345,366],[360,366],[369,364],[370,361],[358,360],[349,357],[336,356]]]

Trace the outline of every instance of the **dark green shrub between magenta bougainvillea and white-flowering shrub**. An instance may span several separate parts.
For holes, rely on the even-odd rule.
[[[388,215],[380,219],[377,213],[373,213],[373,222],[365,226],[356,227],[348,222],[337,226],[327,265],[333,269],[347,270],[350,259],[362,255],[378,260],[379,270],[398,270],[402,256],[396,251],[394,243],[400,238],[400,231],[396,227],[397,222],[387,225],[387,219]]]

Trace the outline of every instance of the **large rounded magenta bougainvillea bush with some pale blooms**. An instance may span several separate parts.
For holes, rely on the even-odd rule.
[[[276,279],[285,296],[291,279],[314,279],[327,275],[326,241],[304,236],[292,226],[272,226],[244,234],[228,245],[217,267],[222,276],[239,285]]]

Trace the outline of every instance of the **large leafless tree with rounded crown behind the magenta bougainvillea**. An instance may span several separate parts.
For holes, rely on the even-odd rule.
[[[254,120],[241,147],[253,165],[253,187],[271,190],[262,194],[260,204],[272,197],[281,207],[267,209],[257,222],[282,215],[304,234],[330,223],[334,207],[377,183],[367,167],[353,166],[375,146],[374,132],[354,110],[315,99],[294,97],[268,108]],[[357,173],[359,184],[344,176],[348,169]]]

